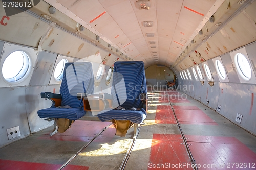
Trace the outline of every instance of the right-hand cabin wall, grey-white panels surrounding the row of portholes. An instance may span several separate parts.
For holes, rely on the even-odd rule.
[[[180,82],[180,86],[178,86],[178,89],[184,91],[189,96],[210,107],[212,110],[217,111],[218,113],[229,119],[231,122],[241,126],[242,128],[250,131],[253,134],[256,134],[256,85],[255,83],[253,83],[255,81],[253,75],[255,75],[254,63],[256,60],[256,42],[242,48],[245,48],[251,65],[251,83],[244,83],[243,80],[239,78],[236,67],[232,67],[232,65],[234,65],[231,59],[231,57],[233,57],[233,53],[226,53],[224,55],[220,55],[219,59],[221,59],[226,69],[226,74],[228,78],[227,82],[224,82],[223,80],[220,80],[218,78],[216,67],[214,64],[215,58],[213,58],[207,60],[207,63],[211,70],[211,74],[214,77],[213,86],[210,86],[208,84],[208,80],[205,79],[205,71],[202,68],[203,65],[199,64],[202,75],[204,77],[204,84],[202,85],[199,80],[195,80],[195,77],[193,77],[193,81],[182,80],[179,72],[177,71],[176,75],[178,76]],[[239,51],[241,50],[241,48],[238,48],[236,50]],[[192,70],[190,72],[192,73]],[[188,88],[189,86],[190,88]],[[209,103],[207,103],[207,100],[209,100]],[[221,107],[220,111],[217,110],[218,107]],[[235,121],[237,113],[243,115],[241,124]]]

